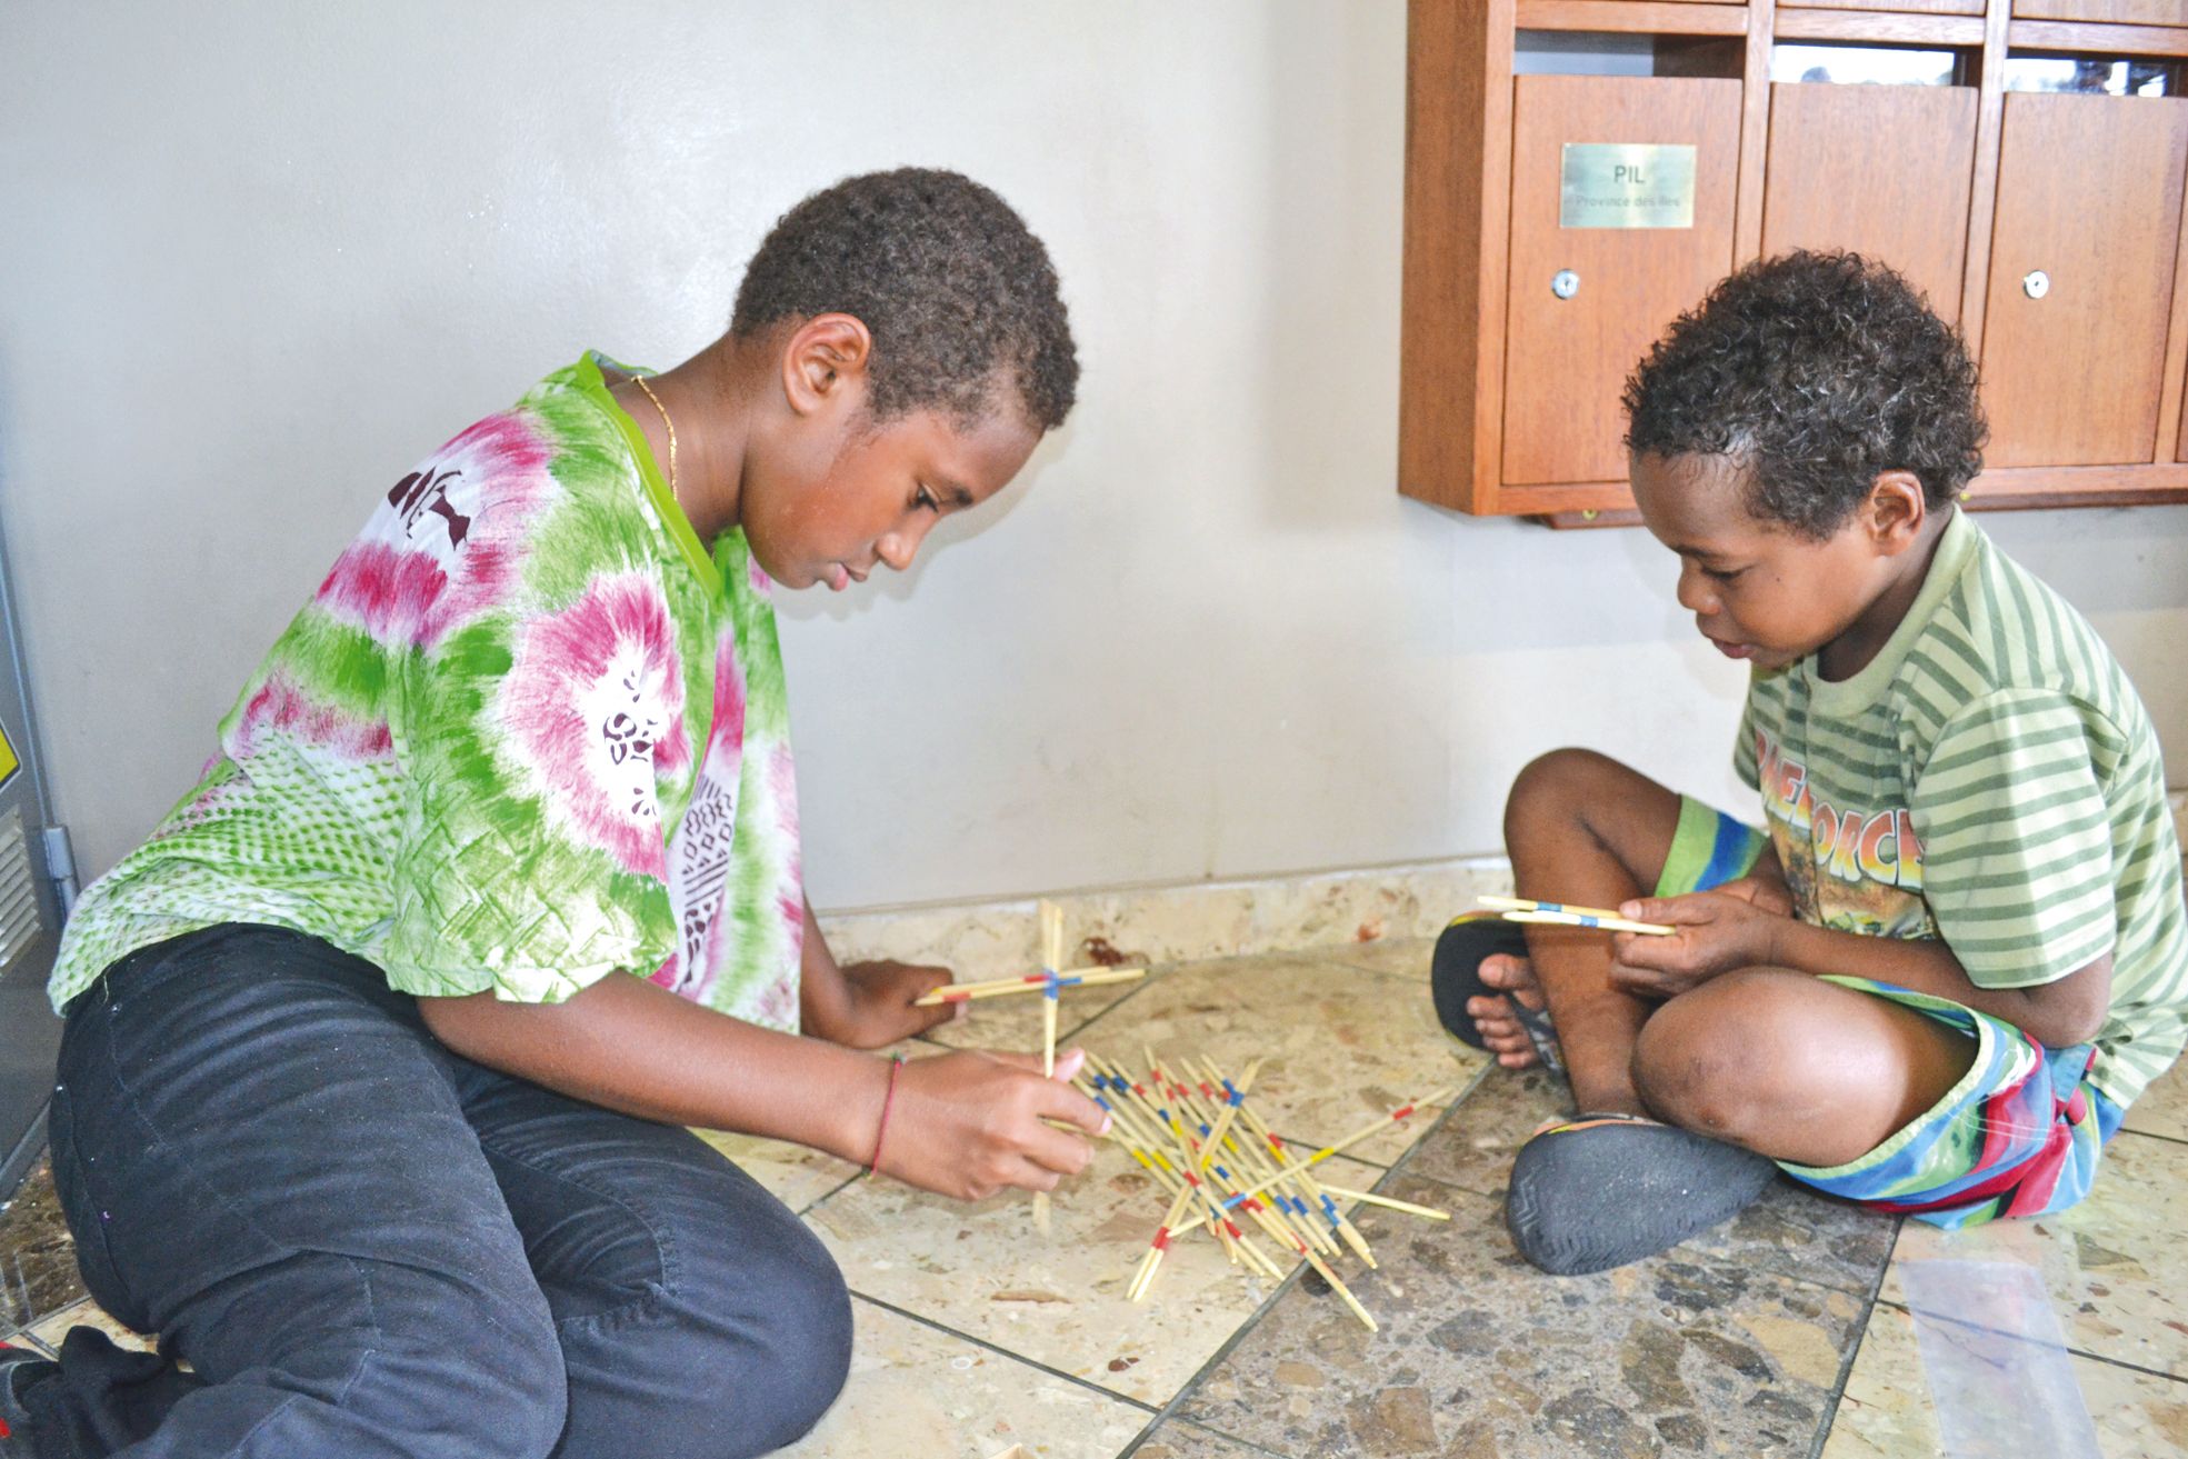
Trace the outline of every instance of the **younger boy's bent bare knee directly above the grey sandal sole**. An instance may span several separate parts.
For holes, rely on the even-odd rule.
[[[1724,973],[1650,1015],[1630,1067],[1656,1118],[1746,1144],[1781,1111],[1805,1063],[1788,976]]]

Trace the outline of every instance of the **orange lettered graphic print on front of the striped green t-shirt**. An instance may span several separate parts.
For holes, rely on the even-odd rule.
[[[1869,936],[1936,936],[1908,807],[1818,801],[1807,766],[1764,731],[1755,731],[1755,779],[1803,921]]]

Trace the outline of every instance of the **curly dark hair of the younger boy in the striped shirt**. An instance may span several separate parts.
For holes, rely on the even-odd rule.
[[[1932,510],[1978,470],[1987,435],[1958,330],[1860,254],[1783,254],[1722,280],[1626,381],[1626,446],[1731,455],[1748,510],[1831,536],[1877,475],[1910,470]]]

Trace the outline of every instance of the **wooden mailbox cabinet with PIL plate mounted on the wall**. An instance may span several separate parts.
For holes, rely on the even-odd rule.
[[[1628,74],[1556,66],[1591,44]],[[1785,46],[1945,70],[1772,81]],[[2188,0],[1411,0],[1407,50],[1405,494],[1632,521],[1650,341],[1746,260],[1851,247],[1967,335],[1974,505],[2188,501]],[[2100,61],[2135,94],[2015,81]]]

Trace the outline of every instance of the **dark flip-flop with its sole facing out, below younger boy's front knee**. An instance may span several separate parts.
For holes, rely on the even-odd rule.
[[[1505,1229],[1551,1275],[1608,1271],[1731,1221],[1774,1175],[1761,1155],[1676,1124],[1584,1113],[1518,1148]]]

